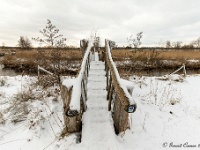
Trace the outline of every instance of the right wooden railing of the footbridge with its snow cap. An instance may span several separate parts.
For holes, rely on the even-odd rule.
[[[112,110],[116,133],[125,131],[129,127],[129,113],[136,110],[136,103],[128,89],[121,83],[117,68],[112,60],[109,41],[105,40],[105,70],[107,76],[108,110]],[[112,101],[114,106],[112,108]]]

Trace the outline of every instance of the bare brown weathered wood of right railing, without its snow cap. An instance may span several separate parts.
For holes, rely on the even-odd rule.
[[[112,58],[109,57],[111,53],[108,50],[107,41],[105,43],[105,48],[106,48],[105,70],[106,70],[106,77],[107,77],[106,89],[108,90],[107,99],[109,100],[108,110],[111,110],[112,95],[114,95],[113,121],[114,121],[115,131],[118,134],[120,132],[125,131],[129,126],[128,113],[124,110],[125,107],[129,105],[129,100],[126,97],[125,92],[120,86],[114,66],[111,63],[112,60],[110,59]],[[110,80],[112,80],[112,82],[110,82]],[[110,86],[109,83],[111,83],[112,85]]]

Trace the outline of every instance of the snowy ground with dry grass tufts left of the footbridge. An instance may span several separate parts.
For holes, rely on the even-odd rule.
[[[59,142],[64,122],[57,87],[43,90],[36,81],[0,76],[0,150],[64,150]],[[76,138],[74,134],[62,141],[70,145]]]

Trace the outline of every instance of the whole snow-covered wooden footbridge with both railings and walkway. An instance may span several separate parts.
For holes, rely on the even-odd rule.
[[[132,87],[122,82],[108,40],[101,54],[90,42],[81,41],[81,48],[79,75],[61,86],[66,132],[82,131],[85,149],[119,149],[116,134],[129,128],[129,113],[136,110]]]

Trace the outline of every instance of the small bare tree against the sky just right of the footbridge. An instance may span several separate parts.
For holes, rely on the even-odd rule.
[[[143,32],[139,32],[137,34],[136,39],[133,38],[133,35],[131,35],[129,38],[127,38],[129,46],[130,47],[134,46],[134,48],[138,48],[142,44],[142,42],[141,42],[141,38],[143,36],[142,34],[143,34]]]

